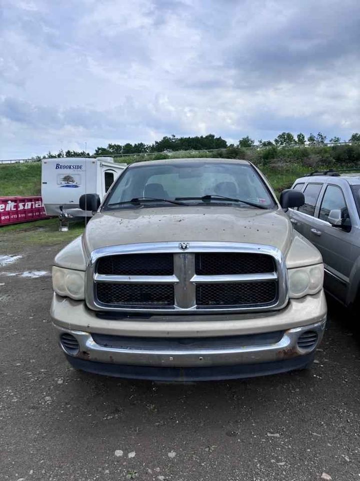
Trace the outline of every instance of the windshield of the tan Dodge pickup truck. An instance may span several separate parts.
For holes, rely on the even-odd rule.
[[[165,199],[181,199],[187,205],[194,205],[204,204],[204,197],[207,204],[236,202],[243,208],[277,207],[271,192],[251,165],[205,159],[133,164],[118,178],[103,207],[128,208],[132,199],[142,198],[151,206],[176,205]]]

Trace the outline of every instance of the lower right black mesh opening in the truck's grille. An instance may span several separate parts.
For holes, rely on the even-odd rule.
[[[275,281],[198,284],[197,306],[245,306],[273,303],[277,296]]]

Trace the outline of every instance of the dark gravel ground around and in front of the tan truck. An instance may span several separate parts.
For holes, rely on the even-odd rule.
[[[52,336],[58,250],[0,267],[1,480],[360,479],[360,336],[345,310],[330,303],[310,371],[191,384],[85,374]]]

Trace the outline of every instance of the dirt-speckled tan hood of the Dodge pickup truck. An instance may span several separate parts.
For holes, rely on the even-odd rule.
[[[87,224],[87,253],[105,246],[146,242],[245,242],[279,248],[291,242],[281,210],[232,206],[169,206],[100,212]]]

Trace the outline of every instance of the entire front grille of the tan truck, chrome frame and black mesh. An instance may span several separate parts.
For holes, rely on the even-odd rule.
[[[281,253],[238,243],[155,243],[91,254],[86,302],[95,310],[206,313],[279,309],[287,301]],[[187,249],[186,249],[187,247]]]

